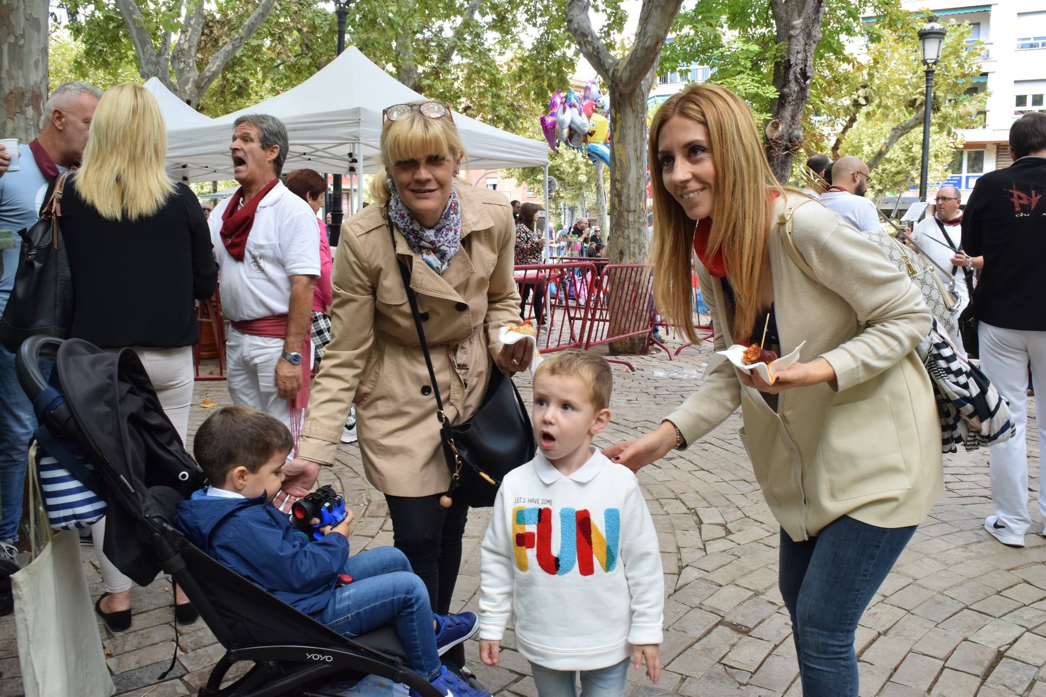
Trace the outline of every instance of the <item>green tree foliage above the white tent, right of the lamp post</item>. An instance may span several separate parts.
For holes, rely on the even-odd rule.
[[[624,24],[620,0],[599,0],[601,33]],[[578,51],[566,0],[358,0],[348,43],[401,83],[456,111],[520,135],[567,85]]]

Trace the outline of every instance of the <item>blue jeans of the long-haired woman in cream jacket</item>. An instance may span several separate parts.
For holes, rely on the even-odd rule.
[[[802,542],[781,530],[779,585],[805,697],[857,697],[858,620],[914,532],[849,516]]]

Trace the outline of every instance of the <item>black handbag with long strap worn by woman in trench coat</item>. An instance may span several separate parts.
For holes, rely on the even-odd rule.
[[[388,228],[394,254],[395,233],[391,220],[388,222]],[[537,452],[538,446],[533,440],[533,428],[530,426],[526,405],[511,378],[492,364],[491,380],[483,403],[464,423],[451,424],[439,396],[439,384],[432,368],[428,342],[425,341],[417,298],[410,287],[410,270],[402,259],[396,261],[403,277],[403,287],[407,292],[407,301],[410,303],[410,312],[414,317],[422,353],[425,354],[425,366],[429,369],[432,394],[436,398],[436,418],[439,420],[444,457],[451,471],[450,488],[440,496],[439,505],[450,508],[454,497],[460,496],[472,508],[493,506],[505,474],[529,462]]]

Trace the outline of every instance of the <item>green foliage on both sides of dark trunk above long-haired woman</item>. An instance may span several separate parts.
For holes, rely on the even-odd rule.
[[[863,19],[869,16],[874,19]],[[917,31],[924,22],[897,0],[827,1],[804,118],[806,154],[868,161],[879,192],[917,182],[925,97]],[[980,45],[964,44],[968,26],[948,26],[934,80],[931,182],[945,173],[952,148],[961,145],[955,130],[976,126],[984,108],[983,95],[964,94],[981,73]],[[743,96],[758,121],[771,118],[773,70],[782,46],[775,39],[770,0],[698,0],[673,29],[676,38],[661,53],[659,72],[709,66],[712,79]],[[796,158],[798,165],[803,160]]]

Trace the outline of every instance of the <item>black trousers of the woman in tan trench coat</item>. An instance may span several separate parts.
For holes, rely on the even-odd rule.
[[[439,496],[385,494],[385,501],[392,518],[393,544],[407,555],[414,573],[428,588],[432,611],[449,614],[461,566],[461,538],[469,518],[469,505],[463,496],[456,496],[453,506],[442,508]],[[464,644],[451,649],[447,657],[463,666]]]

